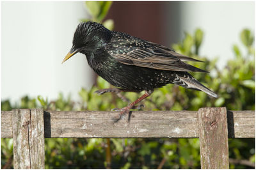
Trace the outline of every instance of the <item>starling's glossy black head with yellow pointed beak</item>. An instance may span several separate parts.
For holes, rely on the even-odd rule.
[[[77,52],[96,52],[111,39],[111,31],[97,22],[81,22],[74,33],[73,45],[62,63]]]

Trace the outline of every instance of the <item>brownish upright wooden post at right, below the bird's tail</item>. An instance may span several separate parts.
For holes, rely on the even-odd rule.
[[[202,169],[228,169],[228,128],[226,107],[198,110]]]

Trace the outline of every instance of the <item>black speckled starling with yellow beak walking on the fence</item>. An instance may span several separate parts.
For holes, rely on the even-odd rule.
[[[156,88],[166,84],[177,84],[184,88],[204,91],[217,98],[218,95],[198,82],[188,72],[207,72],[186,61],[200,60],[189,58],[168,47],[142,40],[119,31],[110,31],[102,24],[93,21],[80,22],[74,32],[72,48],[62,63],[80,52],[86,56],[88,65],[100,77],[116,88],[100,89],[100,95],[121,91],[145,93],[120,111],[114,121],[118,121],[136,104],[149,97]],[[201,61],[202,62],[202,61]]]

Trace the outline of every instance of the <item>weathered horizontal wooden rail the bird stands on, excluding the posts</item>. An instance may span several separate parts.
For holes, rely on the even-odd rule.
[[[12,111],[1,112],[1,137],[12,138]],[[133,111],[113,123],[113,111],[44,111],[45,137],[199,137],[196,111]],[[255,137],[254,111],[227,111],[229,138]]]

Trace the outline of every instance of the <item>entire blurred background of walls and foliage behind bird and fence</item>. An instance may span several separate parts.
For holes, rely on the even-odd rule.
[[[1,1],[2,111],[110,111],[127,105],[113,94],[94,93],[111,86],[82,54],[61,65],[82,20],[205,61],[191,65],[210,73],[192,74],[218,98],[168,84],[143,101],[143,110],[255,110],[254,1]],[[134,101],[141,94],[124,95]],[[230,168],[255,168],[254,138],[228,139],[228,146]],[[46,138],[45,168],[200,168],[199,148],[199,139],[188,138]],[[13,167],[12,139],[1,139],[1,167]]]

